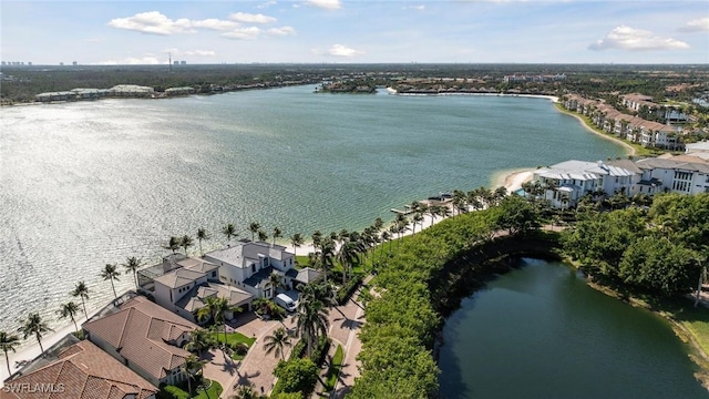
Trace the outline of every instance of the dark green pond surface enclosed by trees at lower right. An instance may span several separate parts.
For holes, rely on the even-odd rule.
[[[443,329],[444,398],[707,398],[659,317],[523,259],[462,301]]]

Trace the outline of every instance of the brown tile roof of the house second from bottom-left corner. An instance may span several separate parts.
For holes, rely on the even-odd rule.
[[[90,337],[99,337],[156,379],[184,362],[189,352],[168,344],[197,326],[172,311],[135,297],[112,315],[83,325]]]

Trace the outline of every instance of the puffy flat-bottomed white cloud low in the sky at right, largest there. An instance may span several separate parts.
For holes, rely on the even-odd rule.
[[[608,32],[605,38],[588,45],[590,50],[685,50],[689,44],[671,38],[661,38],[650,31],[620,25]]]

